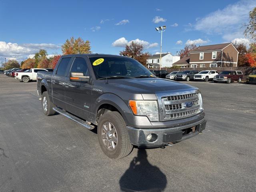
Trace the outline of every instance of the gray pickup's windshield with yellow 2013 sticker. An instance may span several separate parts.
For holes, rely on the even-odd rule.
[[[90,57],[96,79],[102,78],[155,78],[142,64],[132,58]]]

